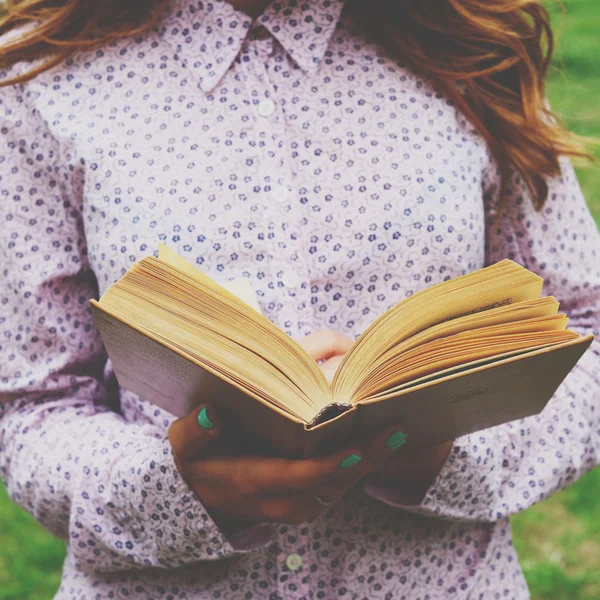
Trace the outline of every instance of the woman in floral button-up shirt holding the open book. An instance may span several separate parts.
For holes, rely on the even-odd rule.
[[[7,11],[0,472],[68,541],[56,597],[527,598],[508,518],[597,464],[597,342],[540,416],[286,461],[232,451],[209,399],[175,421],[118,389],[88,300],[164,242],[249,278],[330,372],[394,303],[509,257],[598,332],[600,243],[560,158],[581,146],[544,104],[542,6]]]

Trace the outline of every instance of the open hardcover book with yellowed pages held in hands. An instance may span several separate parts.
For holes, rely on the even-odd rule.
[[[504,260],[424,289],[356,340],[330,385],[248,304],[165,247],[91,301],[120,385],[174,415],[211,402],[282,455],[392,423],[435,443],[538,413],[591,344]]]

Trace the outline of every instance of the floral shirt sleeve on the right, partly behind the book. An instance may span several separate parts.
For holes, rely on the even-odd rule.
[[[500,205],[499,180],[494,167],[484,182],[486,264],[510,258],[541,275],[569,328],[596,340],[540,415],[455,440],[420,504],[407,506],[398,488],[366,485],[387,504],[444,519],[497,521],[522,511],[575,482],[600,456],[598,229],[568,160],[539,212],[517,174]]]

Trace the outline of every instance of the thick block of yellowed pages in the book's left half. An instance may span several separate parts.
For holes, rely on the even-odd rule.
[[[243,385],[255,386],[300,418],[310,420],[331,400],[325,376],[303,348],[201,273],[192,278],[146,258],[109,288],[100,304],[198,360],[221,364],[231,377],[243,378]]]

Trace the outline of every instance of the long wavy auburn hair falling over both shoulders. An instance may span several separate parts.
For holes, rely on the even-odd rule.
[[[7,0],[0,16],[0,69],[32,60],[21,83],[71,54],[150,30],[169,0]],[[438,82],[483,136],[508,185],[523,177],[536,206],[560,156],[591,158],[546,103],[554,38],[539,0],[349,0],[390,52]],[[41,60],[40,60],[41,59]]]

